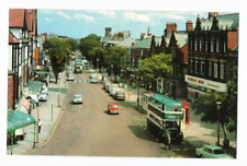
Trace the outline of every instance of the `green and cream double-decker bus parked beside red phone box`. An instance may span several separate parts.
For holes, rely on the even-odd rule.
[[[167,143],[168,137],[170,137],[171,143],[182,142],[181,122],[184,120],[182,109],[181,103],[168,96],[155,94],[149,97],[147,127],[160,142]]]

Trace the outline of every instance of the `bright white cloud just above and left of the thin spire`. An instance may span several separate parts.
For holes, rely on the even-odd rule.
[[[144,22],[149,23],[151,21],[149,14],[142,14],[136,12],[123,12],[123,16],[126,20],[135,21],[135,22]]]

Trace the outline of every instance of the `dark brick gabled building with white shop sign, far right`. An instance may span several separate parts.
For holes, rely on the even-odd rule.
[[[239,14],[209,13],[189,32],[188,99],[206,92],[227,92],[238,63]]]

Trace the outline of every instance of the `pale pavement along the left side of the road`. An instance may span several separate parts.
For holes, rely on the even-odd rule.
[[[66,75],[65,72],[60,74],[59,86],[60,90],[67,88]],[[48,84],[48,95],[46,102],[40,102],[38,107],[38,117],[42,120],[42,129],[41,133],[38,133],[38,143],[35,143],[35,147],[40,147],[44,145],[53,134],[53,131],[56,127],[56,122],[58,121],[59,116],[63,112],[64,106],[63,100],[65,97],[65,93],[60,93],[59,95],[59,106],[58,106],[58,83],[49,83]],[[63,92],[63,91],[60,91]],[[37,107],[35,107],[31,115],[37,121]],[[37,131],[37,129],[36,129]],[[18,141],[16,144],[13,145],[13,155],[23,155],[29,151],[33,150],[34,145],[34,126],[27,126],[24,128],[25,138],[23,141]],[[35,139],[37,140],[37,139]],[[7,146],[7,155],[11,154],[11,146]]]

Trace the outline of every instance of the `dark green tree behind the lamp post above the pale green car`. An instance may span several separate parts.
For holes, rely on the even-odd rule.
[[[226,139],[226,130],[229,127],[231,120],[234,120],[236,107],[233,106],[235,100],[231,99],[227,93],[207,93],[201,94],[199,98],[192,102],[192,108],[195,115],[202,115],[201,120],[204,122],[217,122],[217,106],[216,102],[222,102],[220,108],[220,123]]]

